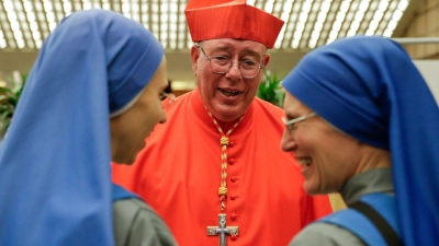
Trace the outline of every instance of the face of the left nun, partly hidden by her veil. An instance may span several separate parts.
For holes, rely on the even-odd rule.
[[[160,96],[168,85],[164,57],[155,75],[137,102],[125,113],[110,119],[112,161],[133,164],[137,153],[145,148],[145,138],[157,124],[166,121]]]

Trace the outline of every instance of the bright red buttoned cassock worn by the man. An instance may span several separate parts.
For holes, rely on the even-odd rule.
[[[227,197],[219,210],[221,133],[198,89],[166,108],[133,166],[113,165],[113,180],[138,194],[166,221],[180,246],[218,245],[207,226],[238,226],[228,246],[286,245],[306,224],[330,213],[327,196],[311,197],[291,153],[280,149],[282,109],[256,98],[229,136]],[[221,124],[223,130],[234,124]]]

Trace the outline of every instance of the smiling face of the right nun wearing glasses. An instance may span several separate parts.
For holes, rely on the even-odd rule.
[[[293,119],[313,113],[286,92],[283,105],[285,118]],[[306,192],[329,194],[359,172],[361,143],[331,127],[318,115],[294,124],[283,131],[281,148],[293,152],[302,167]]]

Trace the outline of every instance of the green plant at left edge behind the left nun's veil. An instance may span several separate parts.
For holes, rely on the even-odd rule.
[[[1,137],[8,130],[13,113],[15,110],[16,104],[19,103],[23,86],[26,82],[27,73],[21,74],[22,81],[15,81],[12,78],[7,80],[12,85],[11,87],[0,87],[0,134]]]

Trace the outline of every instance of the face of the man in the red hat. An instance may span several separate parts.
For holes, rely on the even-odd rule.
[[[233,62],[251,60],[262,67],[270,60],[266,46],[251,40],[212,39],[202,42],[201,47],[209,58],[225,57]],[[263,78],[262,69],[256,77],[246,79],[241,77],[238,65],[233,63],[226,73],[217,74],[212,71],[210,61],[199,47],[192,47],[191,59],[201,99],[215,118],[228,122],[243,116],[258,92]]]

